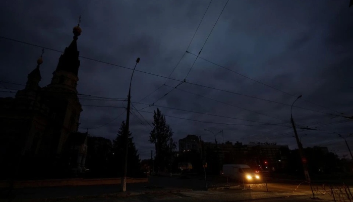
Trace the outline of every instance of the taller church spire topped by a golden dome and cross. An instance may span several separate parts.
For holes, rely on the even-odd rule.
[[[75,76],[78,76],[78,71],[80,67],[80,60],[79,60],[79,51],[77,51],[77,39],[78,36],[81,35],[81,28],[80,28],[81,16],[79,17],[79,23],[77,26],[74,27],[74,40],[71,44],[65,48],[64,54],[60,56],[59,62],[56,67],[56,72],[58,71],[66,71],[71,72]]]

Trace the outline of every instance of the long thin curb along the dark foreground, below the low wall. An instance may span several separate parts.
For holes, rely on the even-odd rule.
[[[143,194],[165,194],[165,193],[179,193],[193,191],[192,189],[172,189],[172,190],[160,190],[160,191],[146,191],[146,192],[125,192],[125,193],[109,193],[101,195],[86,195],[86,196],[68,196],[58,198],[14,198],[14,202],[51,202],[51,201],[68,201],[68,200],[79,200],[79,199],[91,199],[91,198],[123,198],[129,196],[137,196]],[[1,200],[0,200],[1,201]]]

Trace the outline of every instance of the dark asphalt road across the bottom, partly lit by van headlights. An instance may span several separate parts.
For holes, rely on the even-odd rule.
[[[209,177],[208,186],[212,185],[226,184],[224,179],[215,180]],[[222,181],[223,180],[223,181]],[[236,183],[229,182],[230,185],[239,185]],[[246,188],[249,187],[248,184],[245,184]],[[200,198],[204,201],[208,199],[213,199],[217,201],[219,198],[241,198],[241,199],[252,199],[252,198],[261,198],[261,197],[276,197],[278,196],[287,196],[293,194],[308,194],[310,196],[311,189],[308,183],[268,183],[267,188],[266,184],[253,184],[251,185],[251,190],[242,190],[243,186],[236,187],[238,189],[228,189],[228,190],[210,190],[205,192],[205,182],[202,177],[196,178],[178,178],[178,177],[151,177],[149,183],[143,184],[128,184],[128,192],[149,192],[155,190],[169,190],[167,188],[173,189],[192,189],[193,192],[188,192],[184,194],[143,194],[142,199],[149,198],[151,200],[158,200],[158,198],[164,199],[173,199],[173,198],[184,198],[192,200],[189,198]],[[329,187],[323,188],[320,184],[314,184],[313,189],[315,194],[329,192]],[[326,190],[324,190],[326,189]],[[76,197],[76,196],[87,196],[87,195],[101,195],[109,193],[119,193],[119,185],[93,185],[93,186],[76,186],[76,187],[42,187],[42,188],[25,188],[17,189],[16,198],[20,199],[30,199],[30,198],[57,198],[57,197]],[[267,190],[269,192],[267,192]],[[4,194],[5,192],[3,192]],[[0,194],[0,195],[3,195]],[[271,195],[272,194],[272,195]],[[274,195],[273,195],[274,194]],[[220,197],[222,195],[222,197]],[[132,197],[132,198],[134,198]],[[205,198],[203,198],[205,197]],[[0,197],[2,198],[2,197]],[[230,200],[229,199],[229,200]],[[116,198],[115,198],[116,200]],[[234,199],[235,200],[235,199]],[[89,201],[87,199],[87,201]],[[99,200],[98,200],[99,201]],[[117,200],[119,201],[119,200]],[[138,200],[137,200],[138,201]]]

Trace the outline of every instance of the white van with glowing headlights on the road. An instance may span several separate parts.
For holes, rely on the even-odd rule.
[[[239,181],[247,180],[251,182],[260,181],[260,175],[255,173],[250,166],[245,164],[227,164],[223,165],[223,176],[227,176]]]

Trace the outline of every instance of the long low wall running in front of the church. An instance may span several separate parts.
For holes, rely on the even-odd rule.
[[[127,178],[127,183],[147,183],[148,178]],[[29,188],[29,187],[53,187],[53,186],[84,186],[84,185],[108,185],[120,184],[121,178],[98,178],[98,179],[50,179],[50,180],[28,180],[15,181],[14,188]],[[9,181],[0,181],[0,188],[10,186]]]

